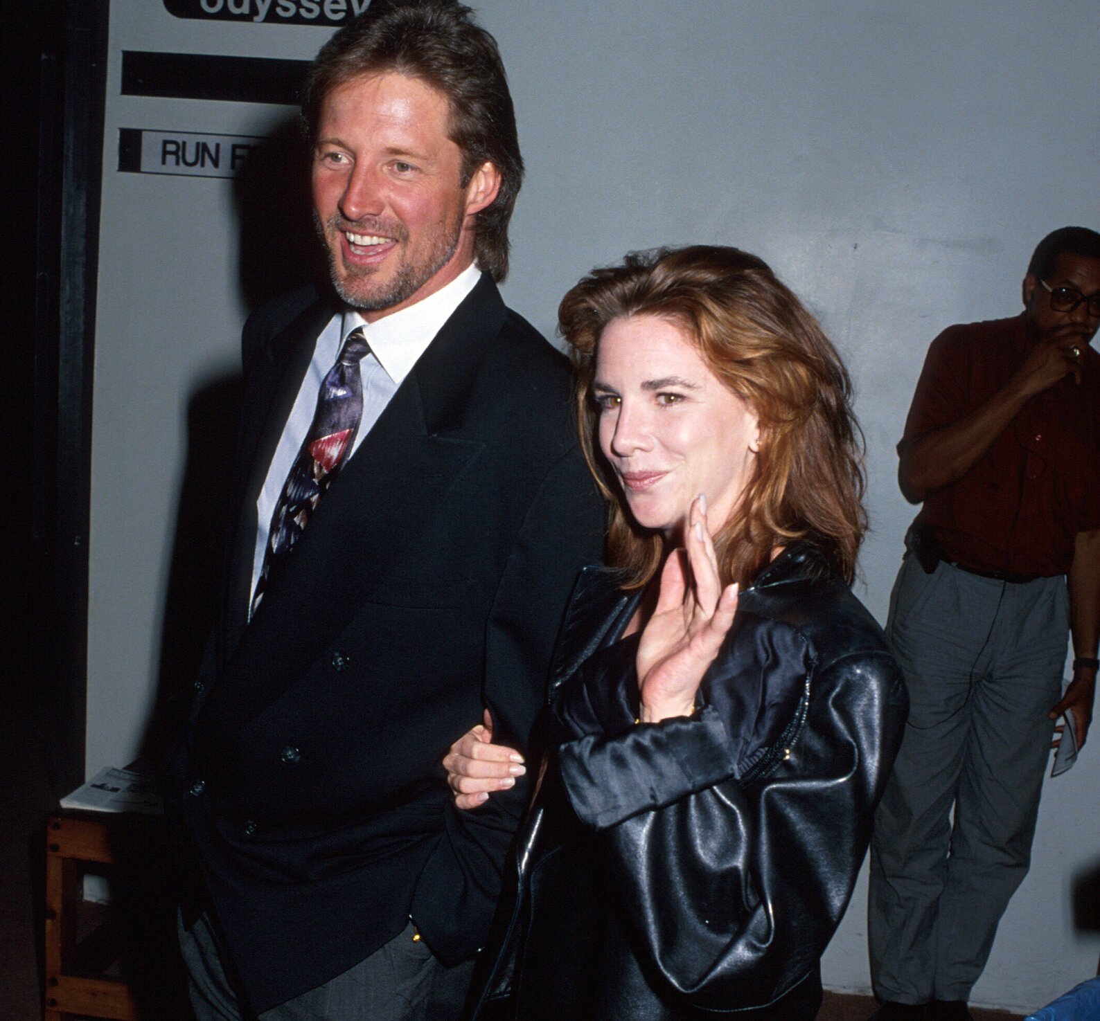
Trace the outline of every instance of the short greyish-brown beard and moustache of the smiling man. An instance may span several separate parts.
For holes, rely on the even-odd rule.
[[[343,227],[340,226],[341,222],[344,223]],[[340,296],[341,301],[363,312],[382,312],[411,298],[450,262],[462,236],[461,214],[454,223],[448,226],[432,226],[428,233],[428,251],[425,253],[424,260],[419,264],[407,262],[404,257],[405,253],[398,247],[396,254],[400,262],[396,273],[387,284],[381,288],[374,288],[371,287],[371,284],[377,275],[377,270],[374,268],[366,271],[348,269],[340,258],[338,252],[340,243],[336,235],[342,233],[344,229],[353,229],[356,234],[393,237],[400,246],[408,240],[408,231],[399,223],[386,225],[385,229],[382,229],[382,224],[372,227],[349,224],[341,221],[338,215],[330,217],[328,221],[322,223],[316,210],[314,224],[324,244],[329,259],[329,276],[336,292]]]

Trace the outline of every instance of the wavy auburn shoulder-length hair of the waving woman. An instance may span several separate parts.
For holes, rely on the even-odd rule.
[[[584,456],[612,500],[607,562],[639,588],[657,571],[660,534],[640,528],[600,452],[592,397],[596,349],[609,322],[653,315],[681,329],[712,373],[760,422],[744,498],[715,536],[723,584],[749,584],[774,546],[806,540],[850,582],[867,515],[862,433],[851,382],[817,321],[755,255],[716,245],[656,248],[594,269],[562,299],[559,331],[578,371]]]

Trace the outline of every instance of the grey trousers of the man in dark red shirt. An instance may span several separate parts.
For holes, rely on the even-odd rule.
[[[880,999],[969,999],[1031,861],[1068,626],[1060,576],[902,564],[887,635],[910,713],[875,815],[868,899]]]

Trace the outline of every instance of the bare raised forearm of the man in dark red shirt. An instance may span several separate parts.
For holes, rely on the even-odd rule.
[[[1023,406],[1076,368],[1071,344],[1036,344],[1009,381],[985,403],[956,422],[903,443],[898,485],[910,503],[960,479],[992,446]]]

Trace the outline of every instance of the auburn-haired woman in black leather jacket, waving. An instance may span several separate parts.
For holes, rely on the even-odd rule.
[[[809,1021],[906,711],[849,591],[866,518],[847,373],[736,248],[629,255],[559,317],[607,567],[565,612],[471,1017]],[[486,717],[443,764],[475,810],[518,762]]]

